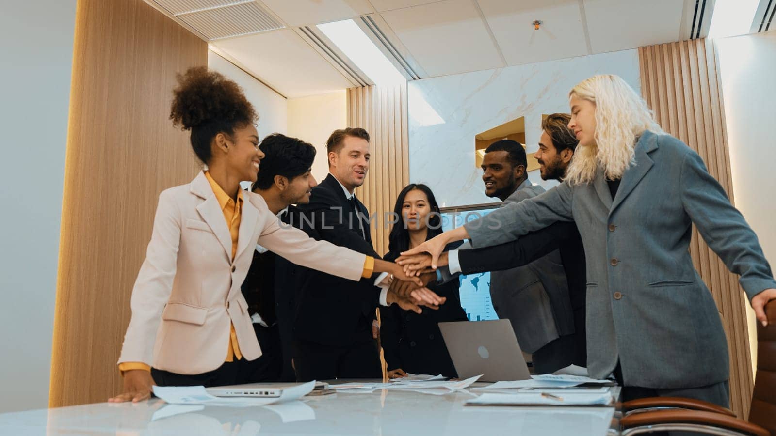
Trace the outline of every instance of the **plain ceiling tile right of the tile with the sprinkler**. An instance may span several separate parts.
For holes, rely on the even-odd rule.
[[[593,53],[679,39],[681,0],[584,0]]]

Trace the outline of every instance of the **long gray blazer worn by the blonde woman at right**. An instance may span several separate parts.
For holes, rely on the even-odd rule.
[[[729,378],[725,332],[688,247],[695,223],[752,299],[776,288],[757,236],[695,151],[645,132],[614,199],[603,171],[465,224],[473,247],[574,220],[587,257],[587,367],[622,366],[626,386],[684,388]]]

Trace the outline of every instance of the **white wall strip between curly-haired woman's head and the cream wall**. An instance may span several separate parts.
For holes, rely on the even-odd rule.
[[[258,136],[263,138],[269,133],[286,133],[287,100],[268,88],[250,74],[235,67],[230,61],[213,51],[207,52],[207,66],[237,82],[245,92],[248,101],[258,112]]]

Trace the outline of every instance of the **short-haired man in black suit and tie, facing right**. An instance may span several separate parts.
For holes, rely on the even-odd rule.
[[[381,258],[372,248],[369,212],[353,194],[369,171],[369,133],[334,130],[326,148],[329,175],[300,206],[300,222],[293,224],[317,239]],[[293,327],[297,380],[382,377],[372,320],[379,304],[396,298],[376,286],[383,277],[351,282],[300,269]]]

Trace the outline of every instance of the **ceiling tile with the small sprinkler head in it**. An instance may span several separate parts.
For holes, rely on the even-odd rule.
[[[509,65],[587,54],[578,0],[478,0]],[[539,30],[532,22],[541,20]]]

